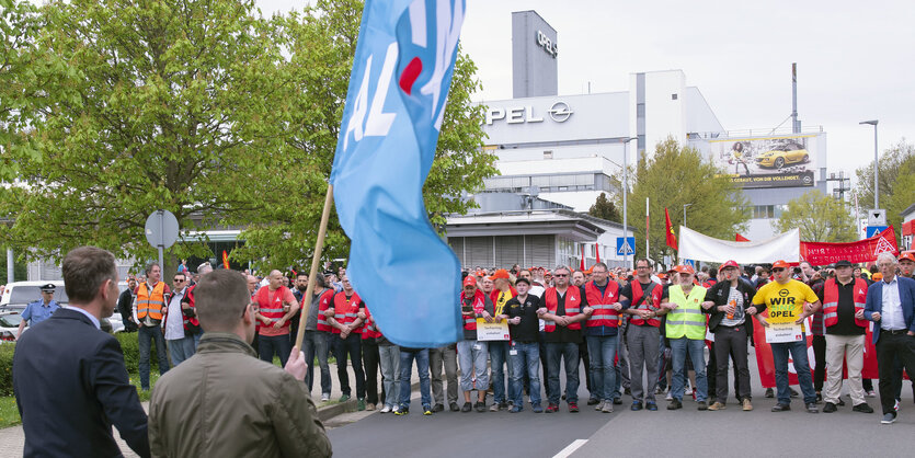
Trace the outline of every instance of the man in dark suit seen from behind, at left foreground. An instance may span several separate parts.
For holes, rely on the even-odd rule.
[[[114,424],[134,451],[148,457],[147,416],[121,345],[99,327],[118,297],[114,255],[75,249],[62,273],[69,306],[24,333],[13,356],[24,456],[122,456]]]

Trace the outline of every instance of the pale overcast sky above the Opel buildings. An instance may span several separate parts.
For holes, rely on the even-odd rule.
[[[255,0],[264,14],[302,1]],[[854,174],[879,150],[915,141],[912,0],[467,0],[461,46],[478,66],[474,100],[512,98],[512,12],[557,30],[559,95],[629,89],[629,75],[680,69],[728,130],[791,114],[791,62],[804,128],[827,133],[828,172]],[[790,119],[781,125],[790,127]]]

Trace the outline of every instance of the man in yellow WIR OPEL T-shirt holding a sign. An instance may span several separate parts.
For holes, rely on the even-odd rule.
[[[794,360],[794,370],[798,374],[798,382],[804,396],[804,404],[810,413],[819,413],[816,408],[816,391],[813,389],[813,379],[810,375],[810,363],[807,357],[807,333],[804,332],[804,320],[820,309],[821,302],[816,294],[803,282],[791,278],[791,266],[785,261],[773,263],[775,282],[766,284],[753,297],[753,305],[758,307],[762,313],[767,309],[777,312],[780,317],[793,320],[801,325],[801,340],[797,342],[775,342],[771,344],[773,360],[775,362],[775,383],[778,389],[778,403],[773,412],[791,410],[791,394],[788,391],[788,353]],[[804,306],[810,304],[810,306]],[[768,327],[768,321],[762,321]]]

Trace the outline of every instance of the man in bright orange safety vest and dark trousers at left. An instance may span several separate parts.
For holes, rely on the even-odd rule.
[[[162,333],[162,317],[165,304],[171,296],[169,285],[162,279],[162,268],[158,263],[146,266],[146,282],[137,287],[134,301],[134,317],[139,323],[137,339],[140,350],[140,387],[149,391],[149,351],[150,341],[156,342],[156,355],[159,357],[159,375],[169,371],[169,355],[165,353],[165,336]]]

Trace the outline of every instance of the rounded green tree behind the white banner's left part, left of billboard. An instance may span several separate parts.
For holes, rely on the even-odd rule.
[[[673,137],[657,144],[654,154],[634,167],[628,213],[629,224],[636,228],[636,240],[645,239],[642,221],[645,220],[647,197],[651,211],[649,257],[653,260],[662,260],[665,255],[675,257],[666,244],[664,208],[670,210],[675,233],[683,225],[683,206],[686,204],[689,204],[686,226],[719,239],[732,239],[735,231],[745,230],[750,219],[748,203],[730,178],[702,158],[698,150],[680,147]],[[615,204],[621,207],[621,193]]]

